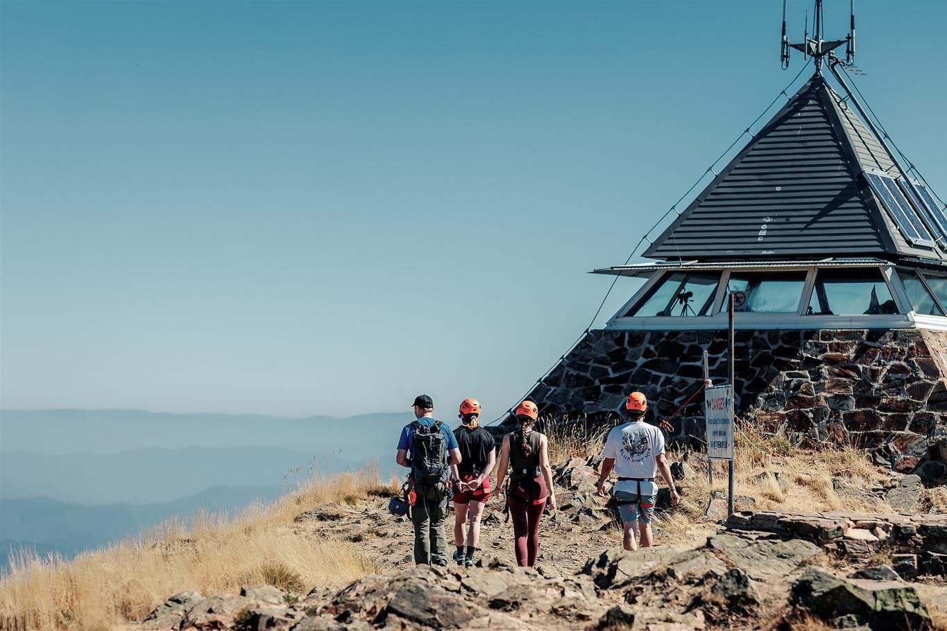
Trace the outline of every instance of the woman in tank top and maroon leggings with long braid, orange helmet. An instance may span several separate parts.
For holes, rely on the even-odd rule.
[[[532,401],[516,409],[520,429],[503,437],[496,486],[503,492],[509,467],[507,502],[513,518],[516,562],[532,568],[539,554],[539,522],[548,506],[556,508],[556,493],[549,467],[549,443],[545,434],[533,430],[539,410]]]

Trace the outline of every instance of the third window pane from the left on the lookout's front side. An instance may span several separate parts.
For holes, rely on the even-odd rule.
[[[875,315],[898,313],[881,270],[819,270],[810,315]]]

